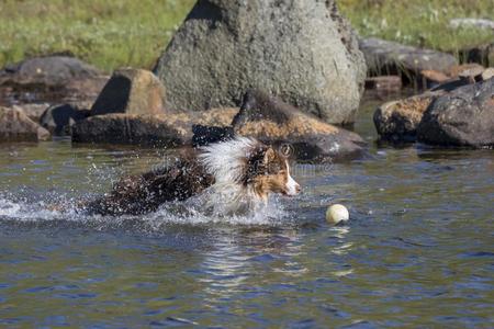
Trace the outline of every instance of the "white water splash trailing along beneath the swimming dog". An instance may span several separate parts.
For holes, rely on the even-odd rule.
[[[77,225],[97,229],[126,228],[149,232],[161,231],[170,225],[281,226],[293,220],[278,197],[262,207],[244,208],[235,214],[222,213],[223,206],[211,207],[207,194],[187,202],[164,204],[158,211],[142,216],[87,215],[78,208],[78,201],[68,195],[44,195],[30,198],[0,194],[0,222],[37,225]],[[209,205],[209,206],[206,206]],[[292,219],[291,219],[292,218]]]

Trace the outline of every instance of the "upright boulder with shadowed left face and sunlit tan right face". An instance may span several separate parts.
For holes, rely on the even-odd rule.
[[[116,70],[91,107],[91,115],[126,113],[159,115],[165,112],[165,87],[147,70]]]

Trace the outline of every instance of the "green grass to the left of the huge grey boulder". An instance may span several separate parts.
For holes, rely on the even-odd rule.
[[[153,66],[193,0],[0,0],[0,66],[70,52],[111,71]]]

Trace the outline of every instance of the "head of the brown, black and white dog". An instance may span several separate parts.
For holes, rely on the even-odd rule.
[[[301,186],[290,175],[287,157],[270,146],[259,144],[246,158],[246,170],[242,178],[245,185],[251,185],[255,193],[266,200],[270,193],[294,196]]]

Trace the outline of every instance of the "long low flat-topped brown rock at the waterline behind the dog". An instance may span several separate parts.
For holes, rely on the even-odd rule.
[[[193,113],[94,115],[72,126],[72,141],[181,146],[192,144],[194,125],[227,126],[238,109],[213,109]]]

